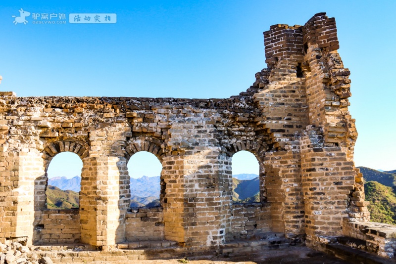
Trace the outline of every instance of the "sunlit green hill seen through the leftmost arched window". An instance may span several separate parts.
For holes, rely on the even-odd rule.
[[[58,187],[48,185],[47,187],[48,209],[71,209],[79,208],[80,194],[71,190],[61,190]]]

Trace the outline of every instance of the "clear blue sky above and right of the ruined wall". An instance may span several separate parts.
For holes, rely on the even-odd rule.
[[[356,166],[395,170],[394,1],[1,1],[1,90],[18,96],[226,98],[266,67],[262,32],[335,17],[351,71]],[[12,15],[31,12],[28,23]],[[66,15],[34,24],[33,13]],[[115,13],[113,24],[71,24],[69,13]],[[37,20],[40,20],[37,19]],[[247,172],[249,173],[249,172]]]

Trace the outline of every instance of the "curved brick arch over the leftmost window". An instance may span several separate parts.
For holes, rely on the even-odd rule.
[[[61,152],[73,152],[83,160],[89,155],[89,145],[82,140],[63,139],[55,142],[48,142],[44,145],[44,150],[42,151],[46,172],[52,158]]]

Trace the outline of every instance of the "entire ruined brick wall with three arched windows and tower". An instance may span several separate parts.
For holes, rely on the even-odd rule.
[[[0,92],[0,242],[70,263],[238,254],[293,241],[334,253],[346,239],[394,258],[396,227],[369,221],[354,168],[357,132],[335,19],[318,13],[304,26],[271,26],[264,44],[268,68],[226,99]],[[162,164],[161,206],[131,210],[126,165],[142,150]],[[233,204],[231,158],[241,150],[259,162],[259,203]],[[64,151],[83,161],[80,208],[47,210],[46,172]],[[59,252],[76,244],[83,251]]]

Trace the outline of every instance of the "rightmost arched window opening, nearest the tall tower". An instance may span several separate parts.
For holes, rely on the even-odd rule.
[[[257,158],[246,150],[232,157],[233,202],[260,202],[260,167]]]

